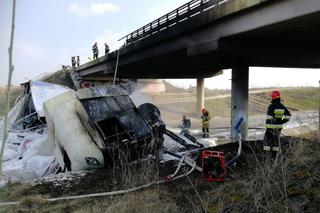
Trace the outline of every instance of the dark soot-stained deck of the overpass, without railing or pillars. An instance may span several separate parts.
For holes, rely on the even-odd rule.
[[[125,46],[120,50],[117,76],[205,78],[239,64],[319,68],[320,8],[300,0],[272,2],[187,31],[190,25],[208,19],[208,11],[177,24],[175,30],[169,28]],[[113,75],[116,58],[113,52],[80,66],[79,74]]]

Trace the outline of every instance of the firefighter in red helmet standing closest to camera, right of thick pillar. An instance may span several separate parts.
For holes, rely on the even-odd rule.
[[[272,91],[271,98],[272,101],[267,113],[263,150],[274,157],[280,151],[280,133],[283,128],[283,124],[290,120],[291,114],[280,102],[279,91]]]

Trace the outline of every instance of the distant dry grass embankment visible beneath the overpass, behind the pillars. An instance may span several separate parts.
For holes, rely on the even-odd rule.
[[[254,89],[262,90],[260,93],[252,93],[249,95],[249,115],[258,115],[266,114],[268,105],[270,104],[270,91],[265,91],[266,89]],[[283,103],[289,108],[291,112],[293,111],[308,111],[308,110],[317,110],[319,108],[319,88],[315,87],[298,87],[298,88],[281,88],[281,99]],[[176,93],[176,96],[179,97],[179,94],[186,96],[186,91],[183,93],[179,91]],[[190,92],[190,96],[194,96],[194,93]],[[215,96],[215,95],[224,95],[230,94],[230,91],[225,90],[212,90],[206,91],[205,97]],[[160,93],[158,96],[166,96],[166,93]],[[172,96],[172,92],[168,93],[169,96]],[[179,97],[180,98],[180,97]],[[160,108],[169,108],[175,109],[178,115],[187,114],[191,117],[198,117],[196,113],[195,102],[183,102],[183,103],[169,103],[164,104],[167,107]],[[230,117],[231,113],[231,97],[219,98],[219,99],[208,99],[205,100],[205,107],[209,110],[211,117]]]

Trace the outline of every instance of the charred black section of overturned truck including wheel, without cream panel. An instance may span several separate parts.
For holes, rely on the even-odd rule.
[[[129,160],[149,154],[162,158],[165,124],[155,105],[137,108],[119,88],[117,92],[107,87],[79,90],[78,98],[103,141],[105,166],[121,158],[119,151]]]

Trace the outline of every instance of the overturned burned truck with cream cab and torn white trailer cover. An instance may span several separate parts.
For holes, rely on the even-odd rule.
[[[154,155],[162,158],[165,124],[156,106],[135,106],[134,82],[79,89],[40,81],[22,85],[11,110],[11,129],[45,129],[39,155],[54,156],[63,171],[112,166]]]

